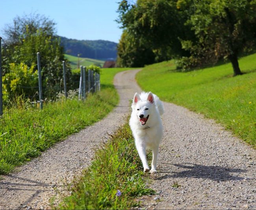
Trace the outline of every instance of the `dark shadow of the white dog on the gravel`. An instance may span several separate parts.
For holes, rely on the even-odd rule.
[[[168,163],[163,163],[168,164]],[[171,171],[162,171],[162,173],[169,173],[161,177],[156,177],[156,180],[168,179],[168,178],[202,178],[211,179],[214,181],[228,181],[228,180],[243,180],[243,177],[239,177],[239,173],[244,173],[247,170],[239,168],[226,168],[221,166],[204,166],[200,164],[168,164],[173,165],[184,170],[175,173]],[[161,171],[159,171],[161,173]],[[172,174],[171,174],[172,173]],[[232,175],[237,173],[237,175]]]

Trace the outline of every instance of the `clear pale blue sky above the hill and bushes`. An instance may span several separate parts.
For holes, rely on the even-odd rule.
[[[57,34],[78,40],[119,42],[122,29],[115,19],[121,0],[0,0],[0,36],[13,18],[38,13],[57,23]]]

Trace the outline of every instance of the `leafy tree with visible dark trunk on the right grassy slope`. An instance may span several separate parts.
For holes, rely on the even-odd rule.
[[[256,41],[256,0],[180,0],[180,11],[190,13],[186,25],[196,40],[182,40],[182,47],[201,60],[228,58],[234,76],[242,74],[237,57]]]

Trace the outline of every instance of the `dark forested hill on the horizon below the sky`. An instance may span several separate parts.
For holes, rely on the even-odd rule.
[[[92,58],[92,59],[116,59],[117,43],[104,40],[77,40],[61,38],[61,45],[64,47],[65,53],[69,55]]]

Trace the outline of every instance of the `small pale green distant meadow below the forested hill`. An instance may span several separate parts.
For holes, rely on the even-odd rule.
[[[68,55],[65,54],[65,58],[67,58],[70,61],[70,65],[72,69],[77,68],[77,64],[78,64],[78,57],[73,56],[73,55]],[[102,60],[96,60],[96,59],[91,59],[91,58],[84,58],[84,57],[79,57],[79,65],[82,66],[89,66],[91,64],[95,64],[98,63],[100,64],[100,66],[102,67],[104,64],[104,61]]]

